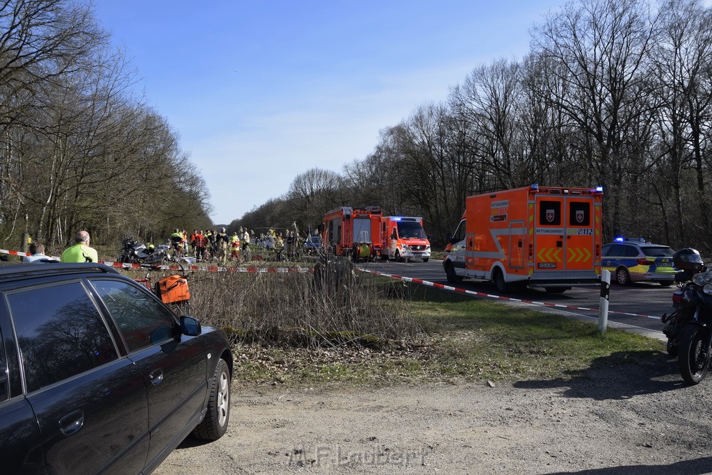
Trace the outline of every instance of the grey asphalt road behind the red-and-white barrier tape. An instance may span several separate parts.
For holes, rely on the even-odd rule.
[[[450,285],[445,278],[442,261],[385,262],[377,260],[375,262],[359,263],[359,266],[372,271],[419,278],[424,281]],[[465,280],[456,286],[469,291],[498,294],[492,283]],[[661,332],[663,324],[659,316],[672,311],[671,296],[675,290],[675,286],[662,287],[658,283],[632,283],[626,287],[612,283],[609,296],[609,323],[612,325],[619,323],[633,328],[640,328],[646,330],[646,332],[652,332],[653,334],[651,336],[664,338]],[[558,303],[560,305],[584,308],[597,309],[600,307],[600,286],[574,287],[570,291],[559,294],[546,293],[538,289],[525,289],[521,292],[508,293],[505,296],[528,301]],[[552,307],[543,308],[548,311],[553,309]],[[561,309],[557,311],[595,320],[597,320],[599,315],[597,311],[590,310]],[[649,316],[619,315],[614,312]]]

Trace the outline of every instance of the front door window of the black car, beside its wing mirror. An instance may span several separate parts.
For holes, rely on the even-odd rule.
[[[141,350],[173,338],[177,323],[167,308],[128,282],[91,281],[130,351]]]

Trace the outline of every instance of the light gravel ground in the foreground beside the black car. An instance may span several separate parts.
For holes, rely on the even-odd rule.
[[[156,474],[712,473],[712,376],[666,357],[570,379],[396,387],[234,382],[228,432]]]

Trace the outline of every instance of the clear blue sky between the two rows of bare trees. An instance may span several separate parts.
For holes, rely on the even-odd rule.
[[[563,3],[96,0],[95,11],[227,224],[297,174],[364,159],[379,130],[445,100],[476,66],[521,58],[530,27]]]

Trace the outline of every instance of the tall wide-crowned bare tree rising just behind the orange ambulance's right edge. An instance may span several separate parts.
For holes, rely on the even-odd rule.
[[[650,91],[644,74],[658,19],[641,0],[581,0],[535,28],[535,53],[560,88],[550,100],[580,130],[579,150],[607,187],[609,228],[622,227],[626,135]]]

